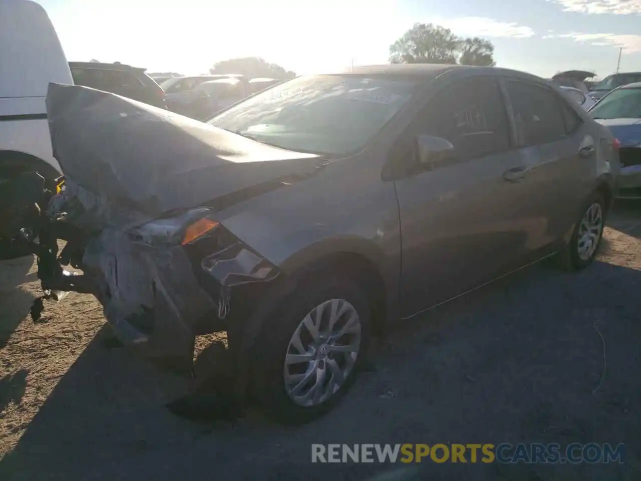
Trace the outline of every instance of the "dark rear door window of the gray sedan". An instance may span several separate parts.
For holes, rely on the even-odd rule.
[[[566,121],[562,108],[567,106],[552,90],[515,80],[507,82],[507,89],[519,146],[547,144],[565,137]]]

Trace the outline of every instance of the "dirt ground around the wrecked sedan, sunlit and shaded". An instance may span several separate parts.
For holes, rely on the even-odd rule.
[[[34,324],[38,295],[33,259],[0,264],[2,480],[641,479],[638,203],[617,206],[586,271],[535,266],[395,328],[344,402],[299,428],[176,418],[164,404],[186,382],[110,347],[92,297]],[[625,443],[625,464],[310,462],[312,443],[502,442]]]

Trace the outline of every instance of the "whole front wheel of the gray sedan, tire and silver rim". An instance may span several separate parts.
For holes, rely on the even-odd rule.
[[[272,418],[318,418],[354,383],[370,339],[371,308],[358,281],[310,278],[265,323],[255,353],[256,394]]]

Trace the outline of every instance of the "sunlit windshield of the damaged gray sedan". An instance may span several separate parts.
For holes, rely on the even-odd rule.
[[[365,76],[303,76],[250,97],[209,123],[284,149],[343,155],[363,148],[416,85]]]

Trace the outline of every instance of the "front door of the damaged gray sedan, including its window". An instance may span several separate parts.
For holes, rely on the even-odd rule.
[[[416,162],[416,135],[449,140],[456,158],[432,169]],[[403,242],[404,316],[447,300],[517,264],[525,242],[524,159],[494,76],[455,81],[437,92],[399,140],[395,181]],[[514,176],[506,181],[504,175]]]

